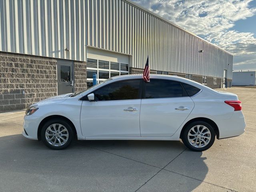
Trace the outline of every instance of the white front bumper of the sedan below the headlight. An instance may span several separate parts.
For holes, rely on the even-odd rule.
[[[42,119],[43,117],[33,116],[33,114],[24,116],[23,127],[27,134],[23,131],[22,135],[28,139],[38,140],[37,131]]]

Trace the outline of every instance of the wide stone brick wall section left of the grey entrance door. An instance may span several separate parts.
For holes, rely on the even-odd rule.
[[[56,95],[56,61],[0,52],[0,112],[24,109]]]

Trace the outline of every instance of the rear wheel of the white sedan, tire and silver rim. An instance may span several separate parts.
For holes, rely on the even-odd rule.
[[[190,150],[205,151],[214,143],[215,135],[214,128],[209,123],[196,121],[186,126],[181,139]]]

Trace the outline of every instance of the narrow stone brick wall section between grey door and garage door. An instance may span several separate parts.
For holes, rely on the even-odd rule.
[[[81,92],[87,88],[86,84],[86,62],[74,62],[74,86],[75,92]]]

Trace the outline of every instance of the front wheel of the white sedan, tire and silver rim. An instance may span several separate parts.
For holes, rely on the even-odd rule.
[[[55,118],[42,126],[41,139],[50,149],[62,150],[68,147],[73,137],[72,127],[66,120]]]

